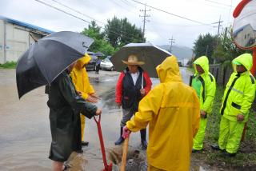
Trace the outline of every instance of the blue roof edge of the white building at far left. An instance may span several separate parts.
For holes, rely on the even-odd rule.
[[[18,20],[14,20],[12,18],[6,18],[6,17],[1,16],[1,15],[0,15],[0,19],[2,19],[3,21],[6,21],[6,22],[13,23],[13,24],[18,25],[18,26],[25,26],[29,29],[38,30],[38,31],[44,32],[46,34],[53,34],[54,33],[54,31],[47,30],[47,29],[44,29],[44,28],[39,27],[39,26],[34,26],[34,25],[28,24],[26,22],[20,22]]]

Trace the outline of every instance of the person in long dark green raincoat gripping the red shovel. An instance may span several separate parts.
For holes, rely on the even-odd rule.
[[[81,149],[80,113],[88,118],[102,113],[96,105],[86,102],[76,92],[70,79],[70,71],[75,62],[58,75],[49,87],[50,131],[52,142],[49,158],[53,160],[53,170],[66,169],[63,162],[70,153]]]

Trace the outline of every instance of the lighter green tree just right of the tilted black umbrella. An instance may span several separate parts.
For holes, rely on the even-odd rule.
[[[90,46],[89,51],[102,52],[105,55],[114,54],[114,47],[105,40],[104,33],[101,33],[101,27],[97,26],[95,21],[92,21],[88,28],[82,31],[82,34],[94,39],[94,43]]]

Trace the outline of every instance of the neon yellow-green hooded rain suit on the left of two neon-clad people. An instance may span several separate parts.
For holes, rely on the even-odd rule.
[[[198,73],[196,65],[202,67],[202,70],[204,70],[203,74]],[[206,117],[200,118],[199,130],[193,140],[193,149],[201,150],[206,134],[207,116],[210,115],[214,103],[216,82],[214,76],[209,72],[209,61],[206,56],[202,56],[194,61],[194,70],[195,74],[192,80],[192,87],[198,94],[200,109],[206,112]]]

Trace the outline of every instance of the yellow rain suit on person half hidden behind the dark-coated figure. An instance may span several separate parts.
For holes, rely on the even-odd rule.
[[[74,83],[74,87],[77,91],[82,93],[82,98],[87,99],[90,93],[94,93],[94,88],[90,85],[88,74],[86,72],[85,65],[90,62],[90,56],[85,54],[84,57],[80,58],[74,69],[70,73],[72,78],[72,82]],[[84,115],[80,115],[81,117],[81,133],[82,133],[82,141],[84,140],[84,128],[86,125],[86,117]]]

